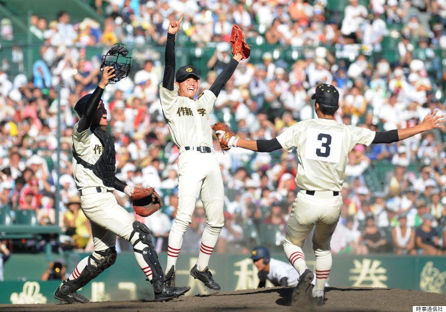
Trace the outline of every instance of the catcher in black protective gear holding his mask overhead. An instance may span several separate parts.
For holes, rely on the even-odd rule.
[[[130,196],[136,213],[141,215],[150,215],[163,205],[153,188],[135,189],[115,177],[114,143],[111,135],[101,129],[108,124],[107,110],[101,96],[109,83],[115,83],[128,75],[131,58],[127,57],[127,53],[122,45],[113,47],[103,58],[103,74],[98,87],[74,106],[80,119],[71,137],[73,175],[81,195],[81,208],[91,221],[95,251],[81,260],[56,289],[54,296],[60,302],[89,301],[76,291],[115,262],[116,235],[133,245],[136,262],[152,283],[155,300],[167,301],[190,289],[189,286],[166,285],[169,276],[165,276],[160,265],[149,228],[119,206],[112,193],[116,189]]]

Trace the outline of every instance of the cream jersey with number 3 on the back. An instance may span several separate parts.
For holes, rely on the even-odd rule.
[[[356,144],[370,145],[375,132],[331,119],[300,121],[277,139],[287,151],[297,149],[296,185],[309,191],[340,191],[347,155]]]

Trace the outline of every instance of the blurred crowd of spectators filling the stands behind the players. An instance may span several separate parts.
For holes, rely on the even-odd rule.
[[[210,118],[228,123],[239,137],[271,139],[315,117],[310,97],[318,83],[338,88],[336,119],[345,124],[383,131],[419,123],[437,109],[445,114],[444,0],[83,2],[93,17],[74,21],[65,10],[29,14],[27,36],[40,42],[31,65],[13,21],[1,19],[0,224],[59,229],[21,244],[9,240],[11,252],[41,252],[49,243],[55,252],[92,248],[72,177],[73,106],[96,88],[101,55],[114,43],[127,45],[135,61],[129,77],[109,85],[103,96],[117,176],[163,195],[162,210],[138,218],[152,229],[157,250],[166,250],[177,208],[178,149],[169,139],[158,88],[167,23],[183,13],[176,45],[189,52],[177,55],[177,66],[196,65],[201,89],[232,56],[232,24],[252,45]],[[445,142],[446,130],[434,129],[394,144],[356,146],[348,158],[332,252],[444,253]],[[226,195],[217,251],[249,253],[259,244],[281,251],[298,191],[295,154],[236,148],[223,153],[217,141],[214,148]],[[124,194],[115,196],[133,213]],[[198,252],[205,222],[197,201],[184,252]],[[120,250],[129,248],[118,243]]]

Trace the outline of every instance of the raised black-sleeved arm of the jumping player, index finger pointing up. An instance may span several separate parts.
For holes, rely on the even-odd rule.
[[[181,21],[183,20],[183,14],[177,21],[171,21],[167,27],[167,41],[165,52],[165,68],[163,76],[163,87],[167,90],[173,90],[173,81],[175,75],[175,35],[178,32]]]

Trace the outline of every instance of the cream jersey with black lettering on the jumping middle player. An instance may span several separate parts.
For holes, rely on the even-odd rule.
[[[182,146],[212,147],[212,129],[209,114],[217,97],[205,90],[195,101],[178,96],[178,87],[170,91],[160,85],[160,99],[167,126],[173,142],[178,148]]]

